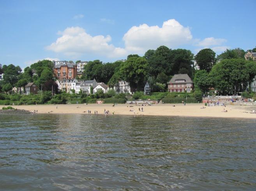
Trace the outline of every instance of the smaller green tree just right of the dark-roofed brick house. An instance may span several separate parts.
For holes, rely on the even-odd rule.
[[[195,87],[203,92],[208,92],[211,86],[209,74],[205,69],[196,71],[193,82]]]

